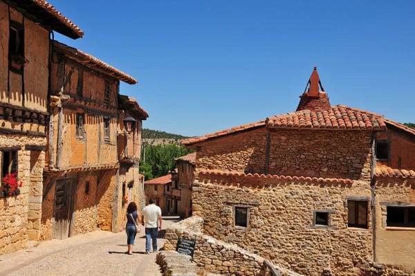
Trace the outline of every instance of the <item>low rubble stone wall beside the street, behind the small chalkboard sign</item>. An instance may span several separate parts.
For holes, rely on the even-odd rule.
[[[202,231],[203,219],[201,217],[190,217],[168,226],[164,249],[175,250],[178,238],[196,241],[193,259],[199,267],[198,275],[208,275],[209,273],[215,275],[264,275],[266,270],[264,258],[236,245],[216,240],[203,234]],[[192,270],[187,262],[183,262],[183,264]],[[280,275],[298,275],[277,265],[274,265],[274,269],[281,273]]]

